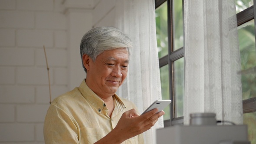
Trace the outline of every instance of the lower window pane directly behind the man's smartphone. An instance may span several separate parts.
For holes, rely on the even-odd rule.
[[[169,73],[168,65],[164,65],[160,68],[160,77],[161,77],[161,89],[162,89],[162,99],[170,99],[169,92]],[[164,120],[170,119],[170,105],[167,108],[164,108]]]

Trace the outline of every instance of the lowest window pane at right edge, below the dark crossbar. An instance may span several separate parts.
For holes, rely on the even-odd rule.
[[[248,126],[248,139],[256,144],[256,112],[243,114],[243,124]]]

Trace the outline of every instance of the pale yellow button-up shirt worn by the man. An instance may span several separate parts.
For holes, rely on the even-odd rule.
[[[82,81],[79,88],[54,99],[44,122],[46,144],[93,144],[115,128],[121,115],[136,106],[113,95],[115,108],[111,118],[104,101]],[[118,138],[118,137],[115,137]],[[144,144],[143,135],[122,144]]]

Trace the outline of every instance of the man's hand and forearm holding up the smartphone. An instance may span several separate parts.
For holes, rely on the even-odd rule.
[[[164,111],[158,112],[155,108],[144,115],[138,115],[135,109],[126,111],[121,116],[116,127],[95,144],[120,144],[123,141],[148,131],[164,115]]]

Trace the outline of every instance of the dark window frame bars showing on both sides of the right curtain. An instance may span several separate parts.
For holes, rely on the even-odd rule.
[[[170,99],[172,100],[170,106],[170,120],[164,121],[164,127],[172,126],[172,125],[183,125],[184,124],[184,117],[174,118],[174,111],[175,111],[175,99],[174,99],[174,79],[173,79],[173,62],[177,59],[184,57],[184,47],[173,51],[173,23],[172,23],[172,0],[155,0],[155,9],[161,6],[164,2],[167,2],[167,30],[168,30],[168,54],[159,59],[159,68],[168,65],[169,67],[169,91],[170,91]],[[254,4],[256,0],[253,0],[253,6],[241,11],[240,13],[236,14],[237,18],[237,26],[240,26],[250,20],[254,19],[256,15],[256,7]],[[182,11],[183,11],[183,24],[184,24],[184,0],[182,0]],[[184,25],[183,25],[184,26]],[[256,33],[256,20],[254,20],[255,26],[255,33]],[[184,27],[183,27],[184,29]],[[255,36],[256,41],[256,36]],[[256,49],[256,48],[255,48]],[[256,69],[256,68],[255,68]],[[185,70],[185,69],[184,69]],[[256,111],[256,98],[249,98],[243,100],[243,113],[249,113]]]

